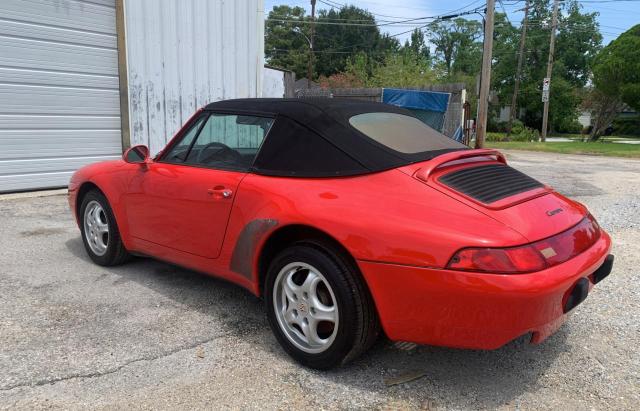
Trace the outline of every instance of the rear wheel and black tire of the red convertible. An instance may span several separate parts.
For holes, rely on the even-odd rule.
[[[269,265],[264,296],[278,342],[310,368],[324,370],[353,360],[380,332],[355,263],[326,244],[295,243],[278,254]]]

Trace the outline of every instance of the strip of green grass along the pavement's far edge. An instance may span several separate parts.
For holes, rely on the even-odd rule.
[[[581,141],[563,143],[487,141],[486,146],[504,150],[529,150],[562,154],[592,154],[609,157],[640,158],[640,144],[585,143]]]

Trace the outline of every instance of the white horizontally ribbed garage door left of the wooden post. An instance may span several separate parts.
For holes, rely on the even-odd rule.
[[[115,0],[0,1],[0,192],[121,153]]]

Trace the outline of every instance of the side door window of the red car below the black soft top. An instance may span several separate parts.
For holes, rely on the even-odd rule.
[[[248,170],[273,124],[272,118],[211,114],[196,137],[185,164]]]

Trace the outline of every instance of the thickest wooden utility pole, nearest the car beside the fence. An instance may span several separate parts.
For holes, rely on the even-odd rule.
[[[484,47],[482,50],[482,73],[480,74],[480,96],[478,97],[478,123],[476,125],[476,148],[484,146],[489,113],[489,90],[491,90],[491,60],[493,54],[493,15],[495,0],[487,0],[484,21]]]

